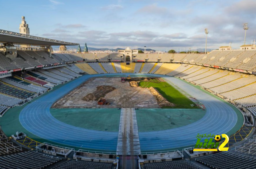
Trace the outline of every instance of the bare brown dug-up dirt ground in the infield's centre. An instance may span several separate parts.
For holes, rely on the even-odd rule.
[[[138,79],[132,79],[132,81]],[[84,101],[84,96],[95,93],[98,86],[112,86],[104,98],[110,105],[100,106],[96,100]],[[91,78],[66,96],[55,102],[52,108],[160,108],[148,88],[131,87],[129,82],[122,83],[121,78]]]

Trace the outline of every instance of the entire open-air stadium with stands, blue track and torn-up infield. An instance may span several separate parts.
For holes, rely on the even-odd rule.
[[[0,29],[0,168],[256,168],[255,41],[90,53],[20,28]]]

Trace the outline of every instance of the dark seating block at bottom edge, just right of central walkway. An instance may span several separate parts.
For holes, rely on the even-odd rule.
[[[167,161],[160,163],[145,163],[146,169],[197,169],[189,161],[179,160],[179,161]]]

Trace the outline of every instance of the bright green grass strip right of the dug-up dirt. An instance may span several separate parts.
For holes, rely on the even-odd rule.
[[[150,79],[150,81],[141,81],[139,86],[142,88],[150,88],[151,86],[156,88],[156,90],[158,90],[166,100],[176,105],[174,107],[163,108],[198,108],[197,106],[191,107],[190,104],[194,104],[194,102],[167,82],[160,82],[158,79]]]

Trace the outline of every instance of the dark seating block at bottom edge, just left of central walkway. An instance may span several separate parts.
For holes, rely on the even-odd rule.
[[[98,163],[91,161],[82,161],[82,160],[69,160],[66,163],[63,163],[56,169],[111,169],[111,163]]]

